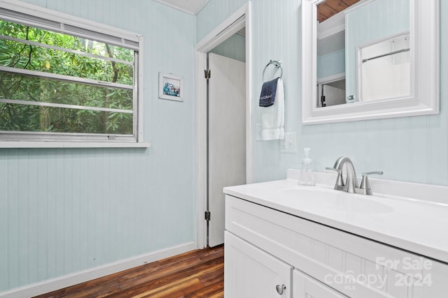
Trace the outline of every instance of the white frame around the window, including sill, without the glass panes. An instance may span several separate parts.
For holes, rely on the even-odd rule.
[[[0,148],[26,147],[149,147],[143,140],[143,36],[106,24],[84,20],[29,3],[0,0],[0,18],[9,22],[66,33],[136,51],[134,60],[133,135],[93,133],[0,133]]]

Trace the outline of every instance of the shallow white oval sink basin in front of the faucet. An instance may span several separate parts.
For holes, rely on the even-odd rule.
[[[309,209],[328,209],[337,212],[352,212],[360,214],[381,214],[393,211],[393,208],[375,201],[374,195],[356,195],[328,188],[294,187],[279,191],[279,200],[285,204]]]

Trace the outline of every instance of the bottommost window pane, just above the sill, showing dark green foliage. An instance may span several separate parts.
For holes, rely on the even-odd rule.
[[[132,114],[0,103],[0,131],[132,135]]]

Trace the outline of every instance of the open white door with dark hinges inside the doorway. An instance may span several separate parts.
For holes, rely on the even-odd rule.
[[[246,64],[209,54],[209,246],[224,242],[223,187],[246,184]]]

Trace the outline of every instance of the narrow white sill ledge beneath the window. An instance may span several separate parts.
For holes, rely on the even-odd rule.
[[[0,148],[149,148],[151,143],[127,142],[0,142]]]

